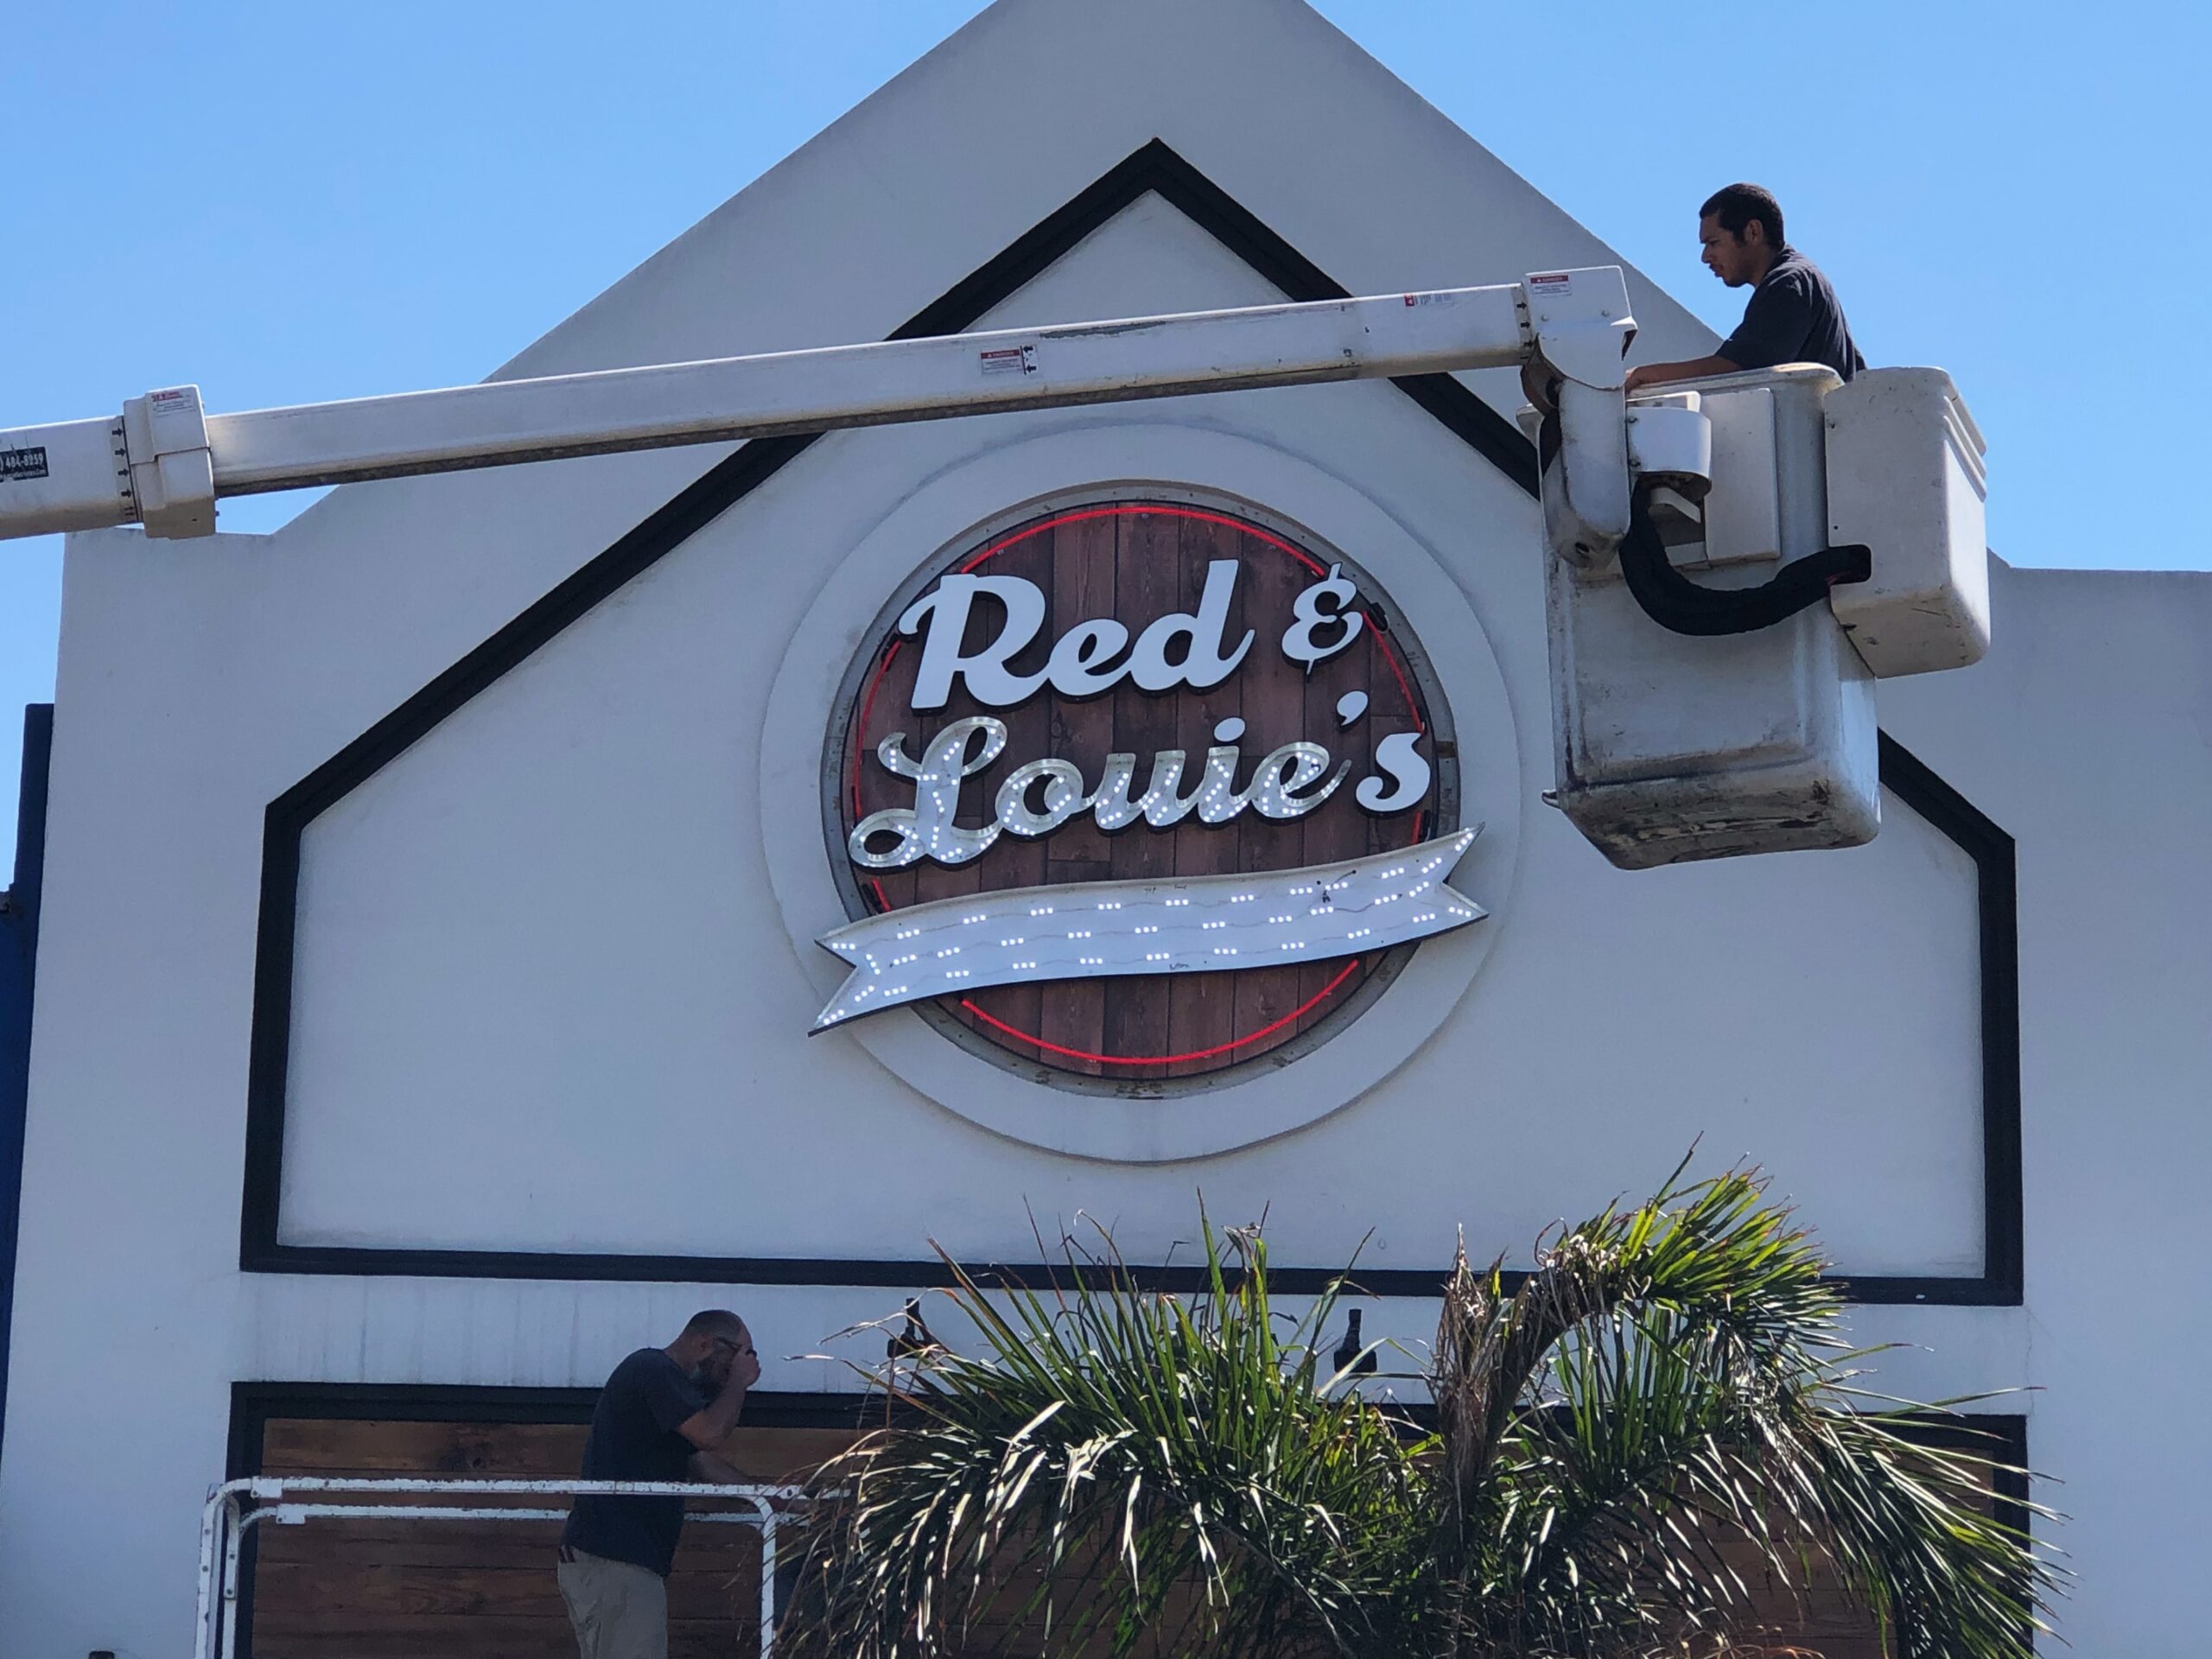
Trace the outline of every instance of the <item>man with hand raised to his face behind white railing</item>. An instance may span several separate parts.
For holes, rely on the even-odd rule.
[[[584,1480],[745,1480],[721,1444],[761,1380],[745,1321],[692,1314],[668,1347],[641,1347],[599,1389]],[[668,1564],[684,1500],[577,1493],[560,1544],[560,1593],[584,1659],[666,1659]]]

